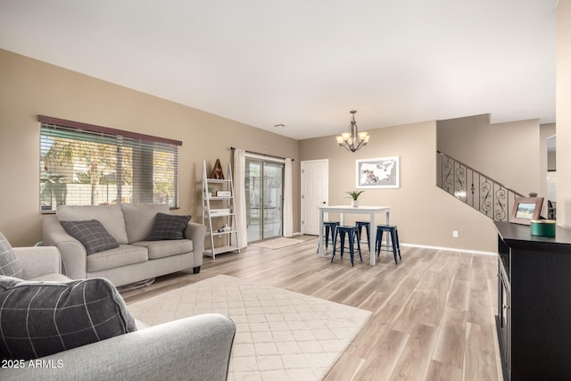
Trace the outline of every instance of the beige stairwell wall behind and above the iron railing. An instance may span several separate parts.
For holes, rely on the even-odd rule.
[[[439,151],[517,193],[544,195],[539,120],[490,124],[484,114],[439,120],[437,131]]]

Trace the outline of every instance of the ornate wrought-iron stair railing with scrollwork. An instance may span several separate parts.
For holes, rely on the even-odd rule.
[[[507,221],[516,197],[523,195],[482,172],[437,151],[436,185],[460,201],[497,221]]]

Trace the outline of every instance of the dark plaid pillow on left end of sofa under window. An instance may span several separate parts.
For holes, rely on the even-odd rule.
[[[97,219],[61,221],[68,234],[86,248],[87,255],[119,247],[119,244]]]

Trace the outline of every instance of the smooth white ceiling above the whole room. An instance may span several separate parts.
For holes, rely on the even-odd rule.
[[[0,0],[0,48],[296,139],[345,131],[351,110],[361,130],[543,123],[557,3]]]

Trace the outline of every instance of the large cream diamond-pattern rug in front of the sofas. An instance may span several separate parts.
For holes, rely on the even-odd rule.
[[[228,379],[320,380],[371,315],[336,302],[219,275],[128,305],[150,326],[215,312],[236,322]]]

